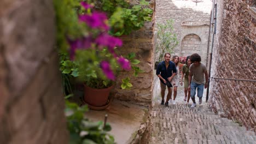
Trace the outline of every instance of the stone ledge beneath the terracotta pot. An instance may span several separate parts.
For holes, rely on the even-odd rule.
[[[90,121],[104,121],[108,114],[107,123],[112,127],[109,134],[114,136],[117,143],[139,143],[147,139],[150,121],[149,107],[139,106],[126,101],[114,99],[106,110],[89,110],[85,113]]]

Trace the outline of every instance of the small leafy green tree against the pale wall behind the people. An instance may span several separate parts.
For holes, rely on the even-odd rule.
[[[159,53],[158,62],[164,60],[164,53],[173,53],[173,49],[178,45],[176,34],[173,32],[173,23],[173,20],[157,23],[156,53]]]

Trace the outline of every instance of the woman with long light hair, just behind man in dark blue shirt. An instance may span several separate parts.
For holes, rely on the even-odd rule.
[[[172,100],[172,104],[175,105],[176,104],[176,96],[177,96],[177,87],[179,86],[179,57],[177,55],[172,57],[172,62],[175,64],[176,69],[177,69],[177,73],[176,75],[172,78],[172,86],[173,86],[173,100]]]

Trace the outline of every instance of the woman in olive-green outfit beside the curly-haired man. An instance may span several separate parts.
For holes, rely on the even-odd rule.
[[[185,93],[184,101],[187,100],[187,104],[189,103],[189,99],[190,99],[190,91],[188,91],[188,76],[189,76],[190,64],[191,64],[190,56],[188,56],[186,59],[186,64],[183,65],[182,71],[181,71],[181,74],[182,74],[181,86],[183,85],[182,81],[183,81],[183,77],[184,77],[184,93]],[[187,99],[187,95],[188,95],[188,99]]]

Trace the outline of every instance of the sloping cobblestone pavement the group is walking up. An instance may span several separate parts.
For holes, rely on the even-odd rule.
[[[178,87],[176,104],[166,107],[160,105],[161,98],[155,97],[152,118],[152,133],[149,143],[256,143],[253,131],[247,131],[227,118],[215,115],[205,102],[190,108],[190,104],[183,101],[183,87]],[[167,93],[167,92],[166,92]]]

